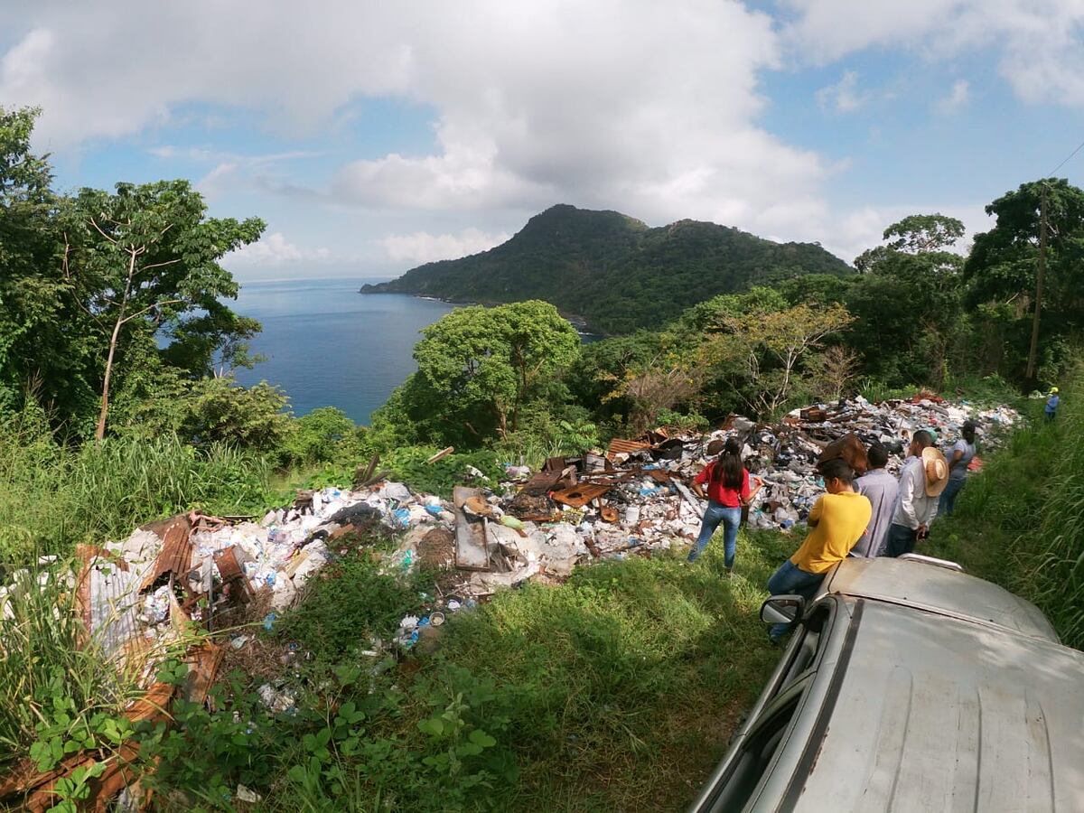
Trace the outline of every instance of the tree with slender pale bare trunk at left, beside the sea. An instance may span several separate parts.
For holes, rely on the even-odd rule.
[[[108,336],[94,436],[105,437],[109,387],[124,331],[156,331],[185,312],[215,312],[237,284],[218,260],[255,242],[263,222],[206,218],[188,181],[119,183],[116,192],[85,189],[75,201],[66,275],[80,304]]]

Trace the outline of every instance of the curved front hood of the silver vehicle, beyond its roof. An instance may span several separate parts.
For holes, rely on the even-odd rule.
[[[824,590],[919,607],[1058,641],[1035,605],[983,579],[914,559],[847,558]]]

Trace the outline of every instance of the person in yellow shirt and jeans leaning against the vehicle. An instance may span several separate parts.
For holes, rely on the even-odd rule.
[[[824,575],[847,558],[869,527],[873,505],[853,489],[854,470],[842,460],[829,460],[821,464],[821,476],[828,493],[813,504],[806,520],[810,532],[801,546],[767,580],[772,595],[797,594],[812,599]],[[778,642],[787,629],[789,624],[775,624],[772,641]]]

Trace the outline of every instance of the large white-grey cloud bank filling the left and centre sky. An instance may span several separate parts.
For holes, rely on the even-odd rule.
[[[344,162],[325,203],[490,212],[474,218],[486,223],[567,202],[780,233],[823,207],[818,156],[758,126],[778,34],[737,0],[341,0],[301,15],[282,1],[121,0],[22,15],[5,21],[25,34],[3,57],[0,99],[44,105],[47,149],[142,132],[193,104],[311,134],[359,98],[396,98],[433,108],[438,147]],[[238,156],[201,157],[219,165],[208,194],[228,172],[299,192]]]

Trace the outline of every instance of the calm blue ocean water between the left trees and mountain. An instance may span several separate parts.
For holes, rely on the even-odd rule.
[[[263,324],[251,350],[268,360],[238,370],[237,380],[279,385],[295,415],[337,406],[353,421],[369,423],[373,410],[416,370],[411,353],[418,331],[452,306],[400,294],[359,294],[361,285],[361,280],[242,283],[234,309]]]

